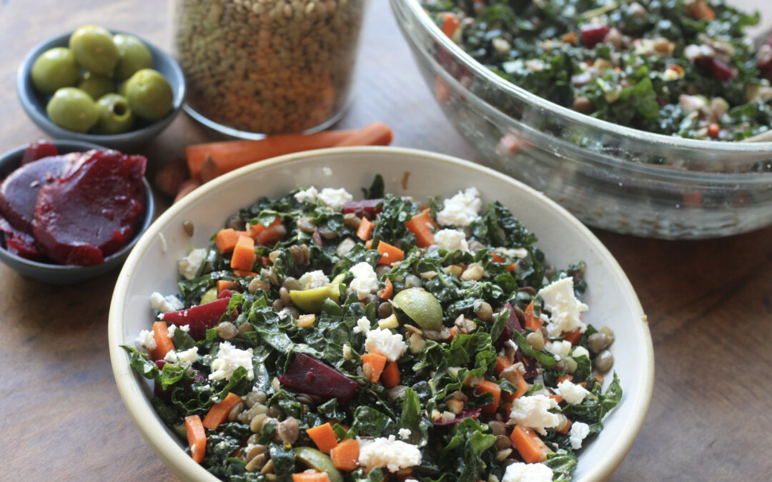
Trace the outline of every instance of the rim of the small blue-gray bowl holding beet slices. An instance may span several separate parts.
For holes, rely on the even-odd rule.
[[[51,140],[50,143],[52,143],[54,146],[57,147],[63,147],[63,145],[66,145],[68,147],[75,147],[76,149],[79,149],[83,147],[86,150],[111,150],[107,147],[99,146],[95,143],[86,142],[83,140],[69,140],[69,139],[57,139],[57,140]],[[19,146],[15,147],[12,150],[8,150],[5,153],[0,154],[0,167],[5,162],[8,162],[12,160],[14,157],[19,157],[19,160],[21,160],[22,154],[24,153],[24,150],[29,146],[29,144],[26,144],[25,146]],[[70,152],[77,152],[76,150],[70,151]],[[17,168],[19,166],[17,165]],[[0,181],[4,180],[5,177],[0,179]],[[118,251],[115,251],[113,254],[109,254],[105,256],[104,262],[100,265],[90,265],[90,266],[78,266],[78,265],[54,265],[51,263],[42,263],[40,261],[32,261],[31,259],[22,258],[18,254],[13,254],[11,251],[8,251],[5,249],[2,245],[0,245],[0,258],[9,258],[12,261],[15,261],[19,265],[26,265],[32,268],[37,268],[40,270],[47,270],[51,272],[59,272],[59,273],[67,273],[71,272],[73,270],[80,271],[80,270],[89,270],[93,269],[94,271],[100,271],[99,268],[103,267],[108,261],[112,261],[114,258],[120,258],[121,256],[125,256],[128,251],[131,251],[132,248],[134,248],[134,245],[137,244],[137,241],[142,237],[141,235],[144,234],[145,231],[147,231],[147,228],[150,227],[151,222],[153,221],[153,216],[155,212],[155,202],[153,200],[153,190],[151,189],[150,182],[147,180],[147,177],[144,175],[142,176],[142,184],[144,184],[145,187],[145,207],[144,207],[144,216],[142,219],[142,224],[137,228],[137,231],[134,233],[134,236],[130,239],[130,241],[127,244],[124,244],[122,248],[120,248]]]

